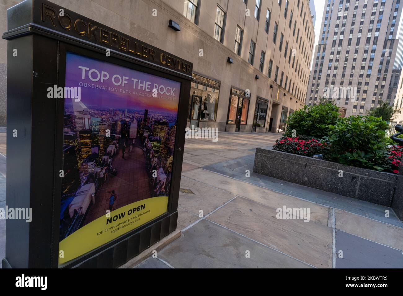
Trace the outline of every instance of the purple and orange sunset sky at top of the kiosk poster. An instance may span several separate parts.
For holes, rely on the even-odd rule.
[[[81,87],[81,101],[87,106],[177,114],[181,83],[68,52],[65,86]]]

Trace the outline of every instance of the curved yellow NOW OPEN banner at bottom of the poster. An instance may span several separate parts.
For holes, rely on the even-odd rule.
[[[168,197],[152,197],[120,207],[76,230],[59,243],[59,265],[75,259],[162,215]]]

